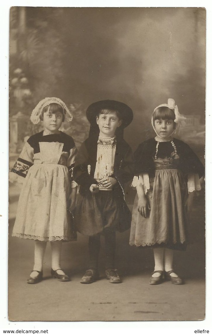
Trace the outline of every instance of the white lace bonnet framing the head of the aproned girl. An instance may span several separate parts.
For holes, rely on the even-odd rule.
[[[51,103],[57,103],[63,108],[63,114],[65,116],[65,120],[71,122],[73,119],[72,114],[70,113],[69,109],[65,105],[65,103],[59,98],[45,98],[41,100],[36,107],[33,109],[30,120],[33,124],[37,124],[40,122],[40,114],[44,107],[48,106]]]

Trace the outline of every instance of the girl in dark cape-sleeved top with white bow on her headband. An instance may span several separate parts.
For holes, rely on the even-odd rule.
[[[192,149],[173,138],[185,123],[173,99],[154,109],[154,138],[141,143],[134,153],[132,186],[137,194],[132,211],[130,245],[152,247],[154,272],[149,284],[173,284],[182,279],[173,271],[174,249],[185,250],[188,242],[187,221],[195,190],[204,167]]]

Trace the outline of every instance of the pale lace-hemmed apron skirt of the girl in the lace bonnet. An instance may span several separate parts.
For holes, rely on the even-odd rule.
[[[20,193],[12,235],[41,241],[74,240],[74,224],[67,209],[69,171],[57,164],[34,164]]]

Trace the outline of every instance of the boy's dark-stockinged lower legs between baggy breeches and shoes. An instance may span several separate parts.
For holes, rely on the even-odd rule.
[[[105,228],[105,269],[114,269],[114,258],[116,248],[116,231],[114,228]],[[100,234],[89,237],[89,268],[98,269],[98,257],[100,251]]]

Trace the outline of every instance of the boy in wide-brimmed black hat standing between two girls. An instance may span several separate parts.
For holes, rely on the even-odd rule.
[[[90,105],[86,115],[91,123],[89,138],[79,150],[73,171],[80,185],[76,228],[89,236],[89,267],[80,283],[99,278],[101,234],[105,237],[106,277],[110,283],[121,283],[114,266],[115,232],[127,230],[131,222],[123,185],[133,177],[133,157],[123,129],[131,123],[133,113],[124,103],[105,100]]]

